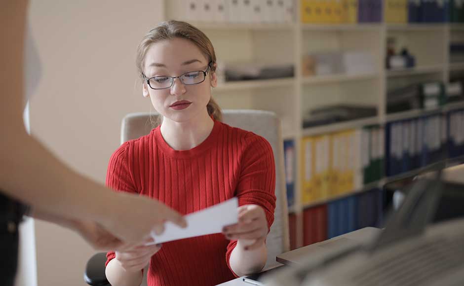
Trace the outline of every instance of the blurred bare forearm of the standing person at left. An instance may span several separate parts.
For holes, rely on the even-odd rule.
[[[113,197],[108,188],[72,171],[24,129],[8,136],[0,148],[2,192],[50,214],[101,218]]]

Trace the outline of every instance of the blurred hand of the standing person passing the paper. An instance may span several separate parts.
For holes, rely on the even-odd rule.
[[[112,194],[107,213],[99,222],[125,244],[140,245],[150,241],[151,232],[161,234],[166,221],[182,228],[187,226],[181,214],[157,200],[129,193]]]

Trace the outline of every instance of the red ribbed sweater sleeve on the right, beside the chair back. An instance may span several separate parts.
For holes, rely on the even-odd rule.
[[[240,177],[235,191],[238,205],[253,204],[262,207],[268,228],[271,229],[275,209],[275,163],[272,147],[266,139],[254,134],[245,141],[240,160]],[[227,246],[226,261],[231,271],[229,259],[236,245],[237,241],[233,240]]]

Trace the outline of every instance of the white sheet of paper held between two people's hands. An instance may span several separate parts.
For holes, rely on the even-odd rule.
[[[164,225],[164,232],[161,235],[155,235],[152,232],[152,237],[155,242],[147,245],[159,244],[168,241],[220,233],[226,225],[235,224],[238,222],[238,200],[232,198],[223,203],[214,205],[207,209],[187,214],[187,227],[180,228],[174,223],[168,221]]]

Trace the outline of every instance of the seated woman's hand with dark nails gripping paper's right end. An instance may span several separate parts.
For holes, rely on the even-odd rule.
[[[245,250],[259,248],[268,235],[268,221],[263,208],[258,205],[238,207],[238,223],[224,227],[223,234],[229,240],[243,242]]]

